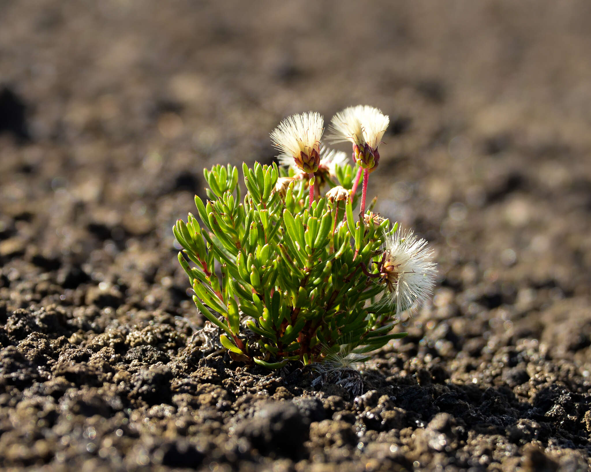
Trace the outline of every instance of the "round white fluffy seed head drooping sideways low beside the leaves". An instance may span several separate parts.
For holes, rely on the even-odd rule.
[[[431,261],[433,250],[412,231],[398,230],[387,238],[385,251],[382,278],[387,291],[382,301],[395,304],[396,314],[416,309],[433,293],[437,274],[436,264]]]

